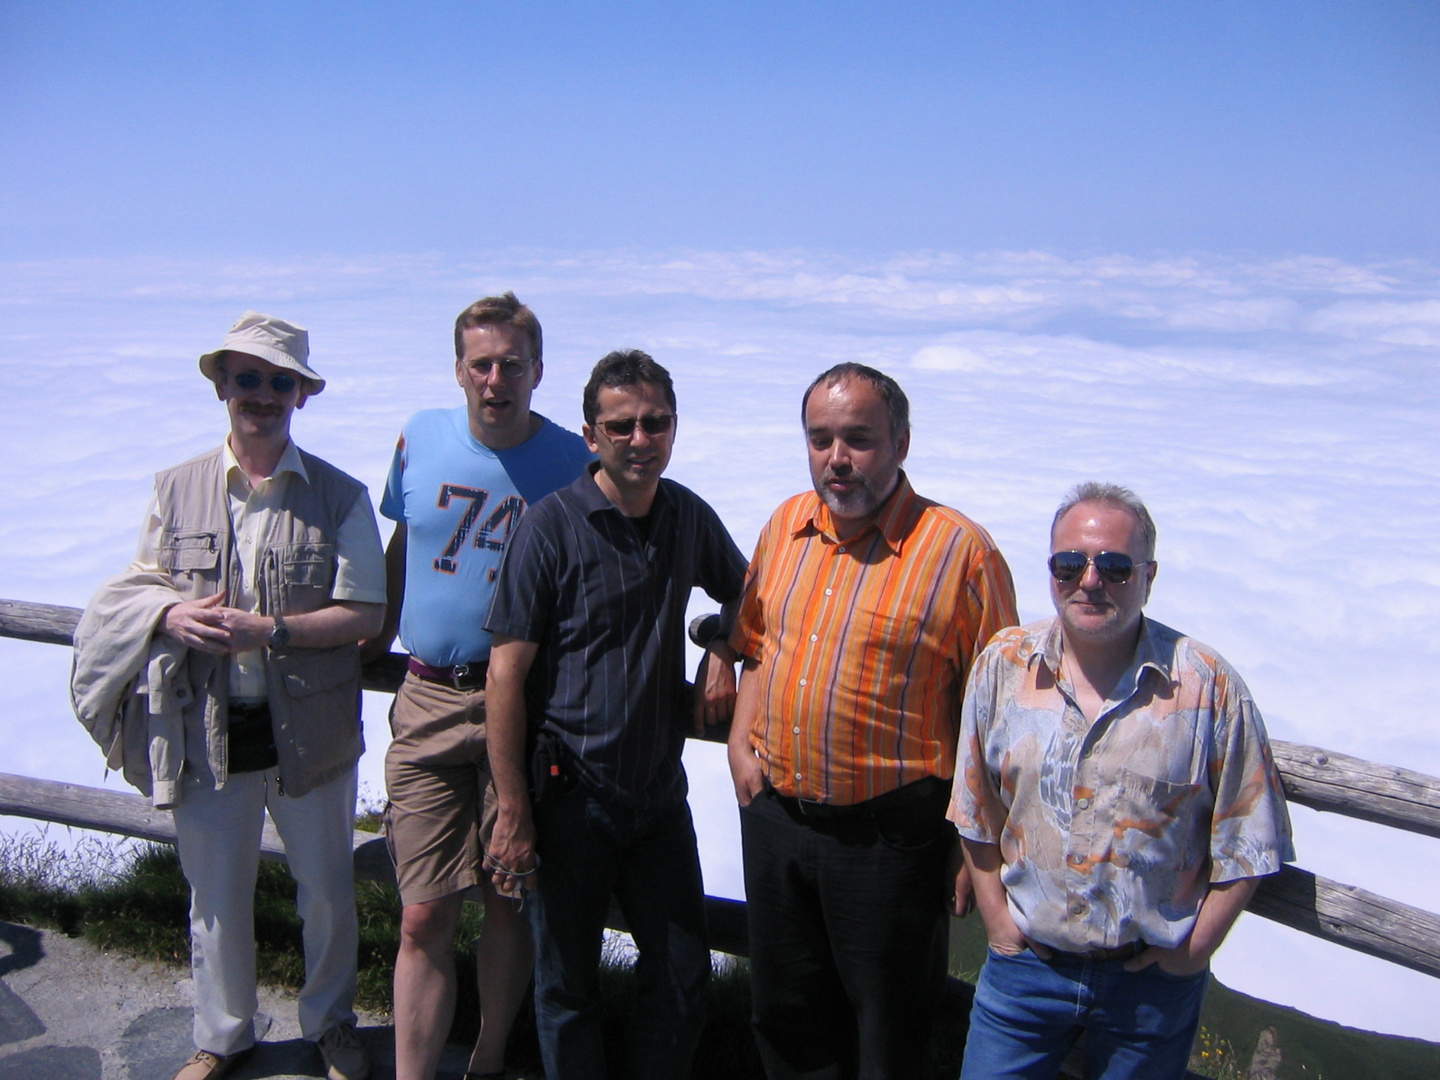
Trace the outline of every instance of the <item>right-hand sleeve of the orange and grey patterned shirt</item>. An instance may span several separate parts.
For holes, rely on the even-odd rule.
[[[1223,665],[1215,680],[1215,711],[1224,716],[1224,759],[1214,783],[1210,880],[1263,877],[1295,860],[1284,788],[1264,720],[1240,675]]]

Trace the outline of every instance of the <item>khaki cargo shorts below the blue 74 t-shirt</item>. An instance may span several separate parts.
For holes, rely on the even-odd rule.
[[[422,904],[478,886],[500,812],[485,755],[485,691],[406,672],[390,734],[384,835],[400,901]]]

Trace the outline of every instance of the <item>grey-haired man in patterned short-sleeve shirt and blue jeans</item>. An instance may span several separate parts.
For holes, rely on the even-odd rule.
[[[962,1077],[1184,1077],[1210,958],[1295,857],[1264,723],[1214,649],[1142,613],[1155,524],[1081,484],[1050,531],[1057,618],[965,691],[950,819],[989,956]]]

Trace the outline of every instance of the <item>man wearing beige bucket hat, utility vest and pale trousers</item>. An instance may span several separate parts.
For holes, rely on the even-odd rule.
[[[127,779],[174,809],[192,890],[197,1050],[176,1080],[225,1076],[255,1044],[252,909],[266,811],[300,886],[301,1032],[331,1080],[369,1074],[351,1009],[357,642],[384,616],[384,557],[364,485],[289,438],[295,409],[325,387],[308,353],[302,327],[246,311],[200,357],[229,438],[157,474],[137,562],[91,605],[124,585],[127,602],[151,603],[147,632],[183,657],[190,691],[179,746],[157,747],[156,723],[138,755],[124,740]]]

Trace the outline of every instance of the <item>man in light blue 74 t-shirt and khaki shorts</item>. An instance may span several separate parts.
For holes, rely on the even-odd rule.
[[[386,834],[400,886],[395,960],[396,1080],[432,1080],[455,1011],[455,927],[467,893],[485,903],[477,946],[481,1030],[468,1074],[501,1076],[505,1041],[533,966],[526,917],[484,870],[495,799],[485,753],[484,629],[495,575],[526,507],[567,487],[590,461],[585,441],[530,410],[543,374],[540,323],[513,292],[455,320],[465,405],[428,409],[400,433],[380,513],[384,631],[410,654],[384,759]]]

